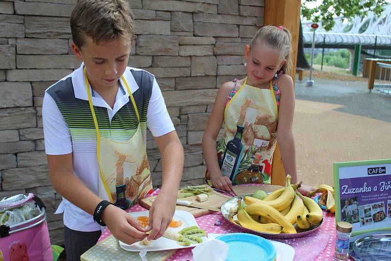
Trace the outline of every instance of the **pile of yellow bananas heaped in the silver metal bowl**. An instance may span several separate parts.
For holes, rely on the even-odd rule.
[[[320,223],[323,219],[322,209],[314,200],[296,191],[301,182],[291,185],[290,180],[291,176],[287,175],[285,187],[272,192],[263,200],[245,196],[245,208],[239,198],[237,219],[231,215],[231,222],[271,234],[295,234],[297,227],[307,230],[311,224]]]

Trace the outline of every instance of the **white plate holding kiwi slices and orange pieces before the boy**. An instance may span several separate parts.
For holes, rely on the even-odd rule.
[[[149,211],[130,212],[129,214],[131,216],[137,218],[140,216],[149,216]],[[190,226],[194,226],[194,225],[198,226],[193,215],[186,212],[186,211],[175,210],[173,219],[178,220],[178,221],[181,220],[183,222],[181,227],[177,227],[177,228],[170,227],[170,229],[175,232],[179,232],[180,230],[182,230],[185,227],[190,227]],[[202,237],[201,239],[203,240],[203,242],[210,240],[206,237]],[[139,252],[139,251],[143,251],[143,250],[144,251],[160,251],[160,250],[169,250],[169,249],[180,249],[180,248],[194,247],[199,244],[190,244],[190,246],[182,246],[182,245],[178,245],[176,243],[176,241],[174,241],[174,240],[161,237],[157,240],[153,240],[152,244],[149,246],[141,245],[140,242],[135,242],[134,244],[128,245],[122,241],[119,241],[119,245],[125,250]]]

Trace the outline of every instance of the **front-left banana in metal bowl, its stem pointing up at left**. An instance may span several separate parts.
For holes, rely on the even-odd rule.
[[[280,234],[282,231],[282,226],[272,223],[272,224],[261,224],[257,221],[255,221],[253,218],[251,218],[246,211],[241,206],[241,197],[239,197],[238,200],[239,204],[239,211],[238,211],[238,219],[239,223],[242,227],[247,229],[256,230],[259,232],[264,233],[271,233],[271,234]]]

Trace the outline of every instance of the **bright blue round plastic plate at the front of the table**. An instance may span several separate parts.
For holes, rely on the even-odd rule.
[[[269,240],[247,233],[230,233],[218,236],[229,246],[227,261],[274,261],[277,250]]]

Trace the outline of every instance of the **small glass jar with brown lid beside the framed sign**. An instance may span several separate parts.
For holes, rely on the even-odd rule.
[[[352,230],[352,224],[344,221],[337,223],[337,233],[335,240],[334,259],[348,260],[349,258],[349,239]]]

